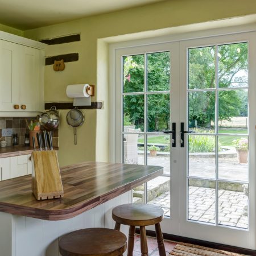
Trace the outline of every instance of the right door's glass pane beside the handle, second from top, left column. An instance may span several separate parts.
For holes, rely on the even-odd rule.
[[[191,130],[214,132],[215,92],[188,92],[188,111]]]

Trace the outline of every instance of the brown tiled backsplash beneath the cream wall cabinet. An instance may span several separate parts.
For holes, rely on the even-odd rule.
[[[29,133],[30,130],[27,127],[27,122],[35,120],[36,117],[0,117],[0,138],[2,137],[2,129],[13,129],[13,133],[18,134],[19,145],[24,145],[25,133]],[[42,127],[42,130],[43,127]],[[7,141],[7,146],[13,145],[13,136],[3,137],[1,141]],[[59,127],[53,131],[53,147],[59,146]]]

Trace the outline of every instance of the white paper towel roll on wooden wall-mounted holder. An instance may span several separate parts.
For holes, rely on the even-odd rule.
[[[94,85],[68,85],[66,93],[69,98],[73,98],[73,106],[90,106],[91,96],[94,96]]]

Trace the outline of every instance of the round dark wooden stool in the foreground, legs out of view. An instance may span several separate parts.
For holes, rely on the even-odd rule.
[[[80,229],[65,234],[59,242],[63,256],[120,256],[127,247],[125,234],[113,229]]]

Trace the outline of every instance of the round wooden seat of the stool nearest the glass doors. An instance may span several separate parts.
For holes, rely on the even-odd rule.
[[[129,226],[149,226],[164,218],[164,211],[152,204],[122,204],[112,210],[113,220]]]

